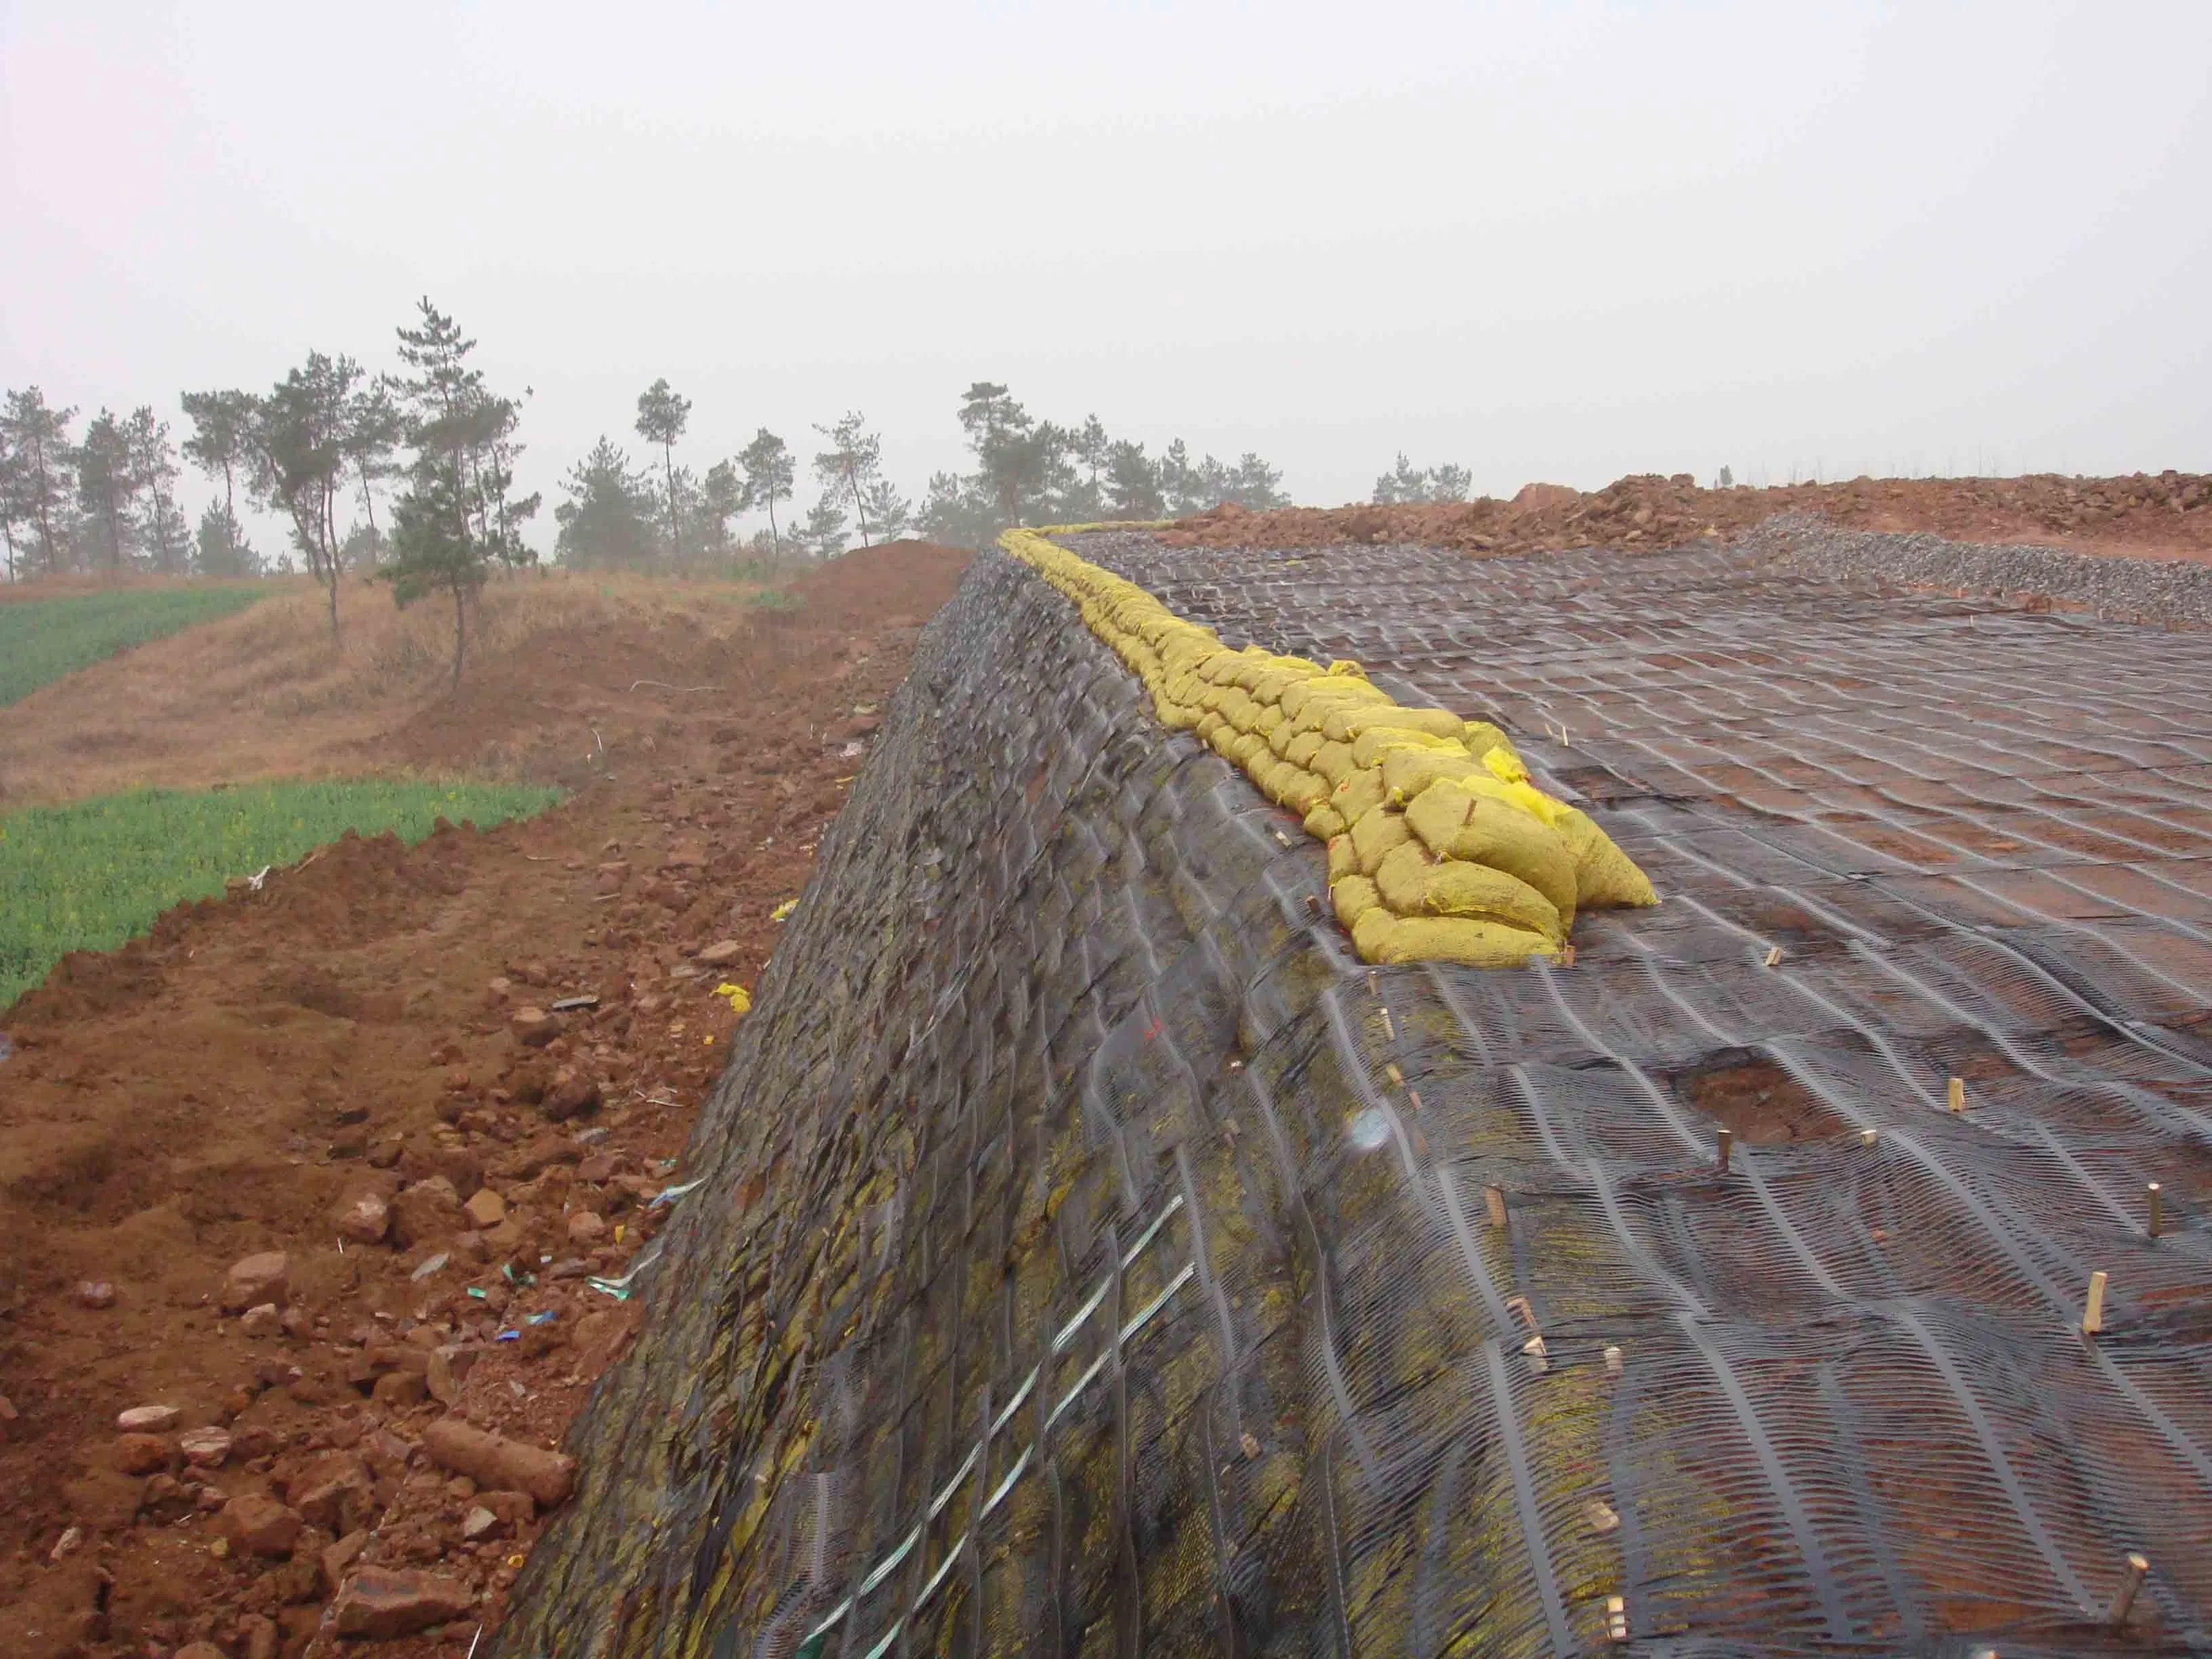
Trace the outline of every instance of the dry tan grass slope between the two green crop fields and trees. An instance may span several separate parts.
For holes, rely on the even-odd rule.
[[[0,726],[0,810],[137,785],[394,774],[394,737],[451,695],[453,613],[407,611],[349,580],[332,648],[321,588],[303,577],[234,617],[188,628],[60,679]],[[498,677],[533,639],[628,626],[688,639],[737,633],[759,588],[641,575],[524,573],[471,613],[467,677]]]

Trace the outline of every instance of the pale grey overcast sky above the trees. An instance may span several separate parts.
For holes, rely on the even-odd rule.
[[[975,378],[1301,502],[2203,471],[2208,64],[2208,0],[0,0],[0,385],[181,431],[429,294],[549,502],[655,376],[681,460],[863,409],[914,493]]]

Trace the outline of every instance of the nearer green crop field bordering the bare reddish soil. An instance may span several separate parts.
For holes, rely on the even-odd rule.
[[[66,951],[111,951],[228,876],[290,865],[347,830],[420,841],[438,818],[491,827],[557,790],[493,783],[252,783],[137,790],[0,818],[0,1009]]]

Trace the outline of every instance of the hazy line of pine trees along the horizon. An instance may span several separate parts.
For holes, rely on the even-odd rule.
[[[398,330],[400,372],[369,374],[345,354],[307,352],[268,392],[226,387],[181,396],[181,449],[153,407],[102,409],[77,431],[77,409],[40,387],[0,405],[0,538],[18,575],[159,571],[261,575],[301,568],[327,593],[338,630],[347,571],[374,573],[409,602],[436,588],[456,604],[456,659],[467,593],[535,553],[522,526],[540,495],[515,493],[522,400],[493,392],[471,363],[476,341],[427,299]],[[524,398],[529,387],[524,387]],[[920,507],[883,469],[883,438],[860,411],[814,427],[814,502],[796,511],[801,456],[761,427],[734,456],[703,469],[677,460],[690,398],[655,380],[637,398],[641,458],[602,436],[560,482],[555,555],[571,566],[708,571],[785,557],[827,557],[854,538],[909,531],[984,546],[1011,524],[1181,518],[1219,502],[1285,507],[1281,471],[1254,453],[1194,458],[1177,438],[1152,456],[1113,438],[1097,416],[1057,425],[1004,385],[973,383],[958,420],[973,467],[931,476]],[[181,462],[217,489],[188,526],[177,502]],[[1389,500],[1464,495],[1464,469],[1429,473],[1398,458]],[[1416,495],[1413,491],[1422,493]],[[1433,495],[1429,491],[1436,491]],[[263,557],[241,509],[285,526]],[[380,515],[383,513],[383,515]],[[759,515],[750,533],[739,520]]]

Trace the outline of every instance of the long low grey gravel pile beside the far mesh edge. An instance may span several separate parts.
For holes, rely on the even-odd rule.
[[[2066,553],[2055,546],[1947,542],[1924,531],[1847,531],[1814,513],[1776,513],[1736,551],[1823,575],[1874,575],[1960,593],[2086,604],[2101,615],[2212,624],[2212,564]]]

